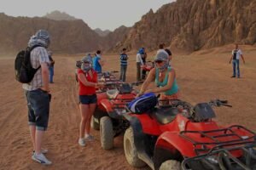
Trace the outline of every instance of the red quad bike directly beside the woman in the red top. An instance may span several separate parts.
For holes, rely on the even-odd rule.
[[[106,86],[116,89],[109,89],[106,93],[97,94],[97,107],[92,117],[90,126],[96,130],[100,129],[101,144],[104,150],[113,148],[113,138],[125,132],[129,122],[123,114],[126,113],[125,105],[136,98],[137,91],[133,89],[139,82],[106,82]]]

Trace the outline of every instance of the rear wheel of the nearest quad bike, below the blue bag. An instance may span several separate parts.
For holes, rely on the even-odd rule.
[[[131,127],[127,128],[124,136],[125,157],[132,167],[145,167],[146,163],[137,155],[137,148],[134,144],[134,134]]]

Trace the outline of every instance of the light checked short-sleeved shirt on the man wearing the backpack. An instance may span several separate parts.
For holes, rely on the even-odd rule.
[[[42,63],[47,63],[49,65],[49,55],[47,53],[47,50],[43,47],[38,47],[32,49],[31,55],[31,64],[34,69],[37,69],[38,66],[40,66]],[[43,77],[42,77],[42,69],[38,69],[35,76],[32,79],[32,82],[24,83],[22,85],[22,88],[24,88],[27,91],[36,90],[38,88],[44,87],[43,84]]]

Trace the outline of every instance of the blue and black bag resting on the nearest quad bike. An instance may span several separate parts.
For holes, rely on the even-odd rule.
[[[157,103],[158,99],[154,93],[143,94],[137,99],[133,99],[128,104],[128,109],[132,113],[141,114],[144,112],[152,111]]]

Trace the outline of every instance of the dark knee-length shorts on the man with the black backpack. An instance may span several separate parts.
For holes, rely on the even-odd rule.
[[[26,91],[28,124],[45,131],[49,121],[49,94],[41,89]]]

